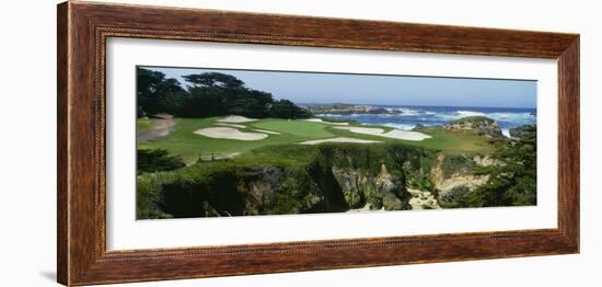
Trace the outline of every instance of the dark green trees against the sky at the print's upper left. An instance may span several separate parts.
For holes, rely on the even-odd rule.
[[[183,77],[187,87],[163,72],[137,68],[138,117],[171,114],[177,117],[242,115],[254,118],[308,118],[311,112],[289,100],[275,100],[253,90],[234,76],[202,72]]]

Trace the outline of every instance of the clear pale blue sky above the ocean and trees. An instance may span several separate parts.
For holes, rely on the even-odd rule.
[[[535,107],[536,81],[261,70],[158,68],[167,78],[223,72],[251,89],[294,103]]]

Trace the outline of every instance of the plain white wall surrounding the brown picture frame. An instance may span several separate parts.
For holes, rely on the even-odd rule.
[[[135,286],[600,286],[602,31],[597,1],[129,0],[224,10],[581,34],[581,254],[238,276]],[[56,268],[56,1],[0,9],[2,286],[54,286]]]

